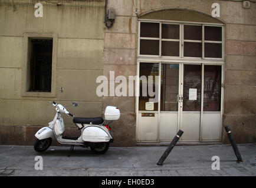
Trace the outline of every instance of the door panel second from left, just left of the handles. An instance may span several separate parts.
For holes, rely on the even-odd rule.
[[[161,63],[159,141],[170,142],[178,132],[180,64]]]

